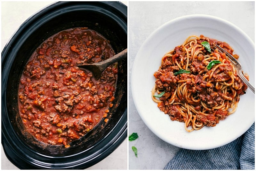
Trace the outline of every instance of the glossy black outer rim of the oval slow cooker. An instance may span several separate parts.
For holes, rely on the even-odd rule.
[[[121,2],[77,2],[78,4],[90,4],[95,5],[98,8],[109,7],[113,8],[121,18],[126,18],[126,32],[127,34],[127,6],[122,4]],[[41,11],[29,17],[22,25],[20,25],[19,29],[12,35],[12,38],[9,39],[8,43],[4,46],[2,51],[2,145],[4,147],[4,153],[7,158],[17,167],[27,169],[29,168],[87,168],[90,167],[100,160],[107,157],[110,153],[112,153],[127,137],[127,106],[121,116],[120,120],[116,124],[116,126],[108,133],[103,140],[97,142],[94,146],[89,149],[93,149],[91,153],[88,153],[88,150],[82,151],[75,155],[69,156],[55,156],[57,160],[62,160],[64,163],[56,163],[56,160],[52,156],[46,156],[39,154],[35,151],[31,151],[30,149],[21,148],[20,146],[12,146],[13,143],[19,144],[19,142],[14,142],[12,135],[15,137],[14,129],[12,127],[10,118],[3,118],[3,113],[6,113],[6,104],[4,103],[6,100],[6,83],[10,73],[10,68],[12,66],[12,61],[9,63],[9,56],[12,55],[12,47],[15,47],[16,40],[19,39],[20,34],[24,31],[24,29],[28,28],[29,25],[35,22],[41,16],[44,16],[49,11],[54,9],[66,7],[68,5],[74,5],[74,2],[56,2],[46,6]],[[102,7],[101,7],[102,6]],[[103,13],[104,14],[104,13]],[[113,14],[117,15],[117,14]],[[127,97],[126,97],[127,101]],[[7,134],[8,132],[8,134]],[[107,143],[106,143],[107,142]],[[24,155],[25,154],[25,155]],[[79,160],[77,155],[83,156]],[[14,156],[15,155],[15,156]],[[38,160],[33,158],[36,155]],[[32,157],[31,157],[32,156]],[[47,161],[53,160],[52,163],[47,163]],[[73,159],[73,160],[70,160]],[[22,162],[21,162],[22,161]],[[73,162],[72,162],[73,161]]]

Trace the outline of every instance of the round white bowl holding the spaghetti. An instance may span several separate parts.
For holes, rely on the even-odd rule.
[[[187,132],[184,123],[171,121],[151,99],[155,84],[154,72],[161,65],[166,52],[181,45],[190,35],[204,35],[227,42],[240,56],[244,73],[254,86],[254,43],[236,25],[209,15],[188,15],[173,19],[154,31],[138,51],[131,77],[132,97],[136,109],[148,126],[160,139],[169,144],[192,150],[205,150],[232,142],[254,123],[254,93],[248,88],[240,96],[235,113],[221,120],[215,127],[203,127]]]

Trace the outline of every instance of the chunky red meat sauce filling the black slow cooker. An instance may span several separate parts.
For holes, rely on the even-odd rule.
[[[73,28],[45,40],[26,64],[19,85],[19,112],[27,131],[50,145],[84,136],[113,106],[117,63],[96,80],[79,63],[115,54],[108,40],[88,28]]]

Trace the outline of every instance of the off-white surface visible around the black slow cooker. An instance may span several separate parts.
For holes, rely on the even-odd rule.
[[[20,25],[36,12],[53,2],[1,2],[1,51]],[[127,4],[124,2],[124,4]],[[19,169],[5,156],[1,145],[1,168]],[[88,169],[127,169],[127,139],[108,157]]]

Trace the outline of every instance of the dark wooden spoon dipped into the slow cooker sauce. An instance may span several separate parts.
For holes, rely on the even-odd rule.
[[[82,63],[77,64],[77,67],[88,69],[91,71],[96,79],[99,79],[102,72],[111,64],[127,58],[127,49],[124,49],[122,52],[117,53],[115,56],[108,58],[105,61],[95,62],[95,63]]]

